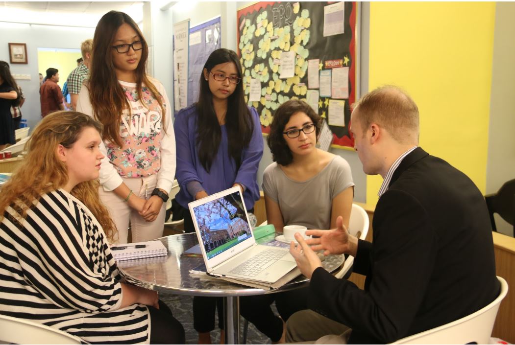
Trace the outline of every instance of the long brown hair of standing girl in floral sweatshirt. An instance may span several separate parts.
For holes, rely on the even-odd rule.
[[[148,58],[148,45],[138,25],[124,12],[110,11],[104,14],[98,22],[93,36],[93,48],[91,52],[91,75],[88,82],[91,105],[95,119],[104,125],[102,137],[122,147],[122,139],[119,135],[122,123],[122,110],[131,109],[122,86],[118,83],[116,72],[111,58],[113,40],[122,24],[130,25],[139,35],[143,43],[141,60],[134,70],[136,77],[136,90],[138,97],[143,102],[141,93],[142,84],[148,87],[152,96],[157,99],[162,111],[162,129],[166,133],[165,109],[161,94],[156,86],[150,82],[146,74]],[[145,105],[144,105],[145,106]],[[169,104],[167,104],[169,106]]]

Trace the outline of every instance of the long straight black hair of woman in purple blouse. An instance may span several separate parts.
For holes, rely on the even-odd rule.
[[[238,56],[229,49],[221,48],[213,51],[205,62],[204,68],[210,72],[214,66],[226,62],[234,62],[238,77],[243,78],[242,65],[239,63]],[[213,107],[213,94],[203,73],[200,76],[200,94],[196,107],[198,157],[202,167],[209,172],[220,146],[221,129]],[[242,163],[242,150],[249,145],[254,131],[254,123],[243,96],[243,82],[236,85],[234,93],[227,100],[226,128],[229,155],[239,168]]]

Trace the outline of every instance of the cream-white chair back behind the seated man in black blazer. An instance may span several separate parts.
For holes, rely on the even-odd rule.
[[[497,277],[501,293],[490,304],[477,312],[434,329],[410,335],[394,344],[488,344],[492,334],[495,316],[501,301],[508,293],[506,280]]]

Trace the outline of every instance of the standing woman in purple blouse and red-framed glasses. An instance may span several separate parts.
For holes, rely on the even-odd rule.
[[[181,187],[176,201],[186,209],[186,232],[195,231],[187,205],[196,199],[239,186],[245,206],[252,212],[260,198],[257,174],[263,137],[258,113],[245,104],[241,80],[242,67],[236,53],[228,49],[213,51],[200,76],[198,102],[175,118],[177,180]],[[193,300],[199,343],[211,343],[216,305],[222,328],[221,298]]]

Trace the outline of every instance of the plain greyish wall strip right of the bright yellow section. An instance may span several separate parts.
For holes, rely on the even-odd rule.
[[[488,129],[487,193],[515,178],[515,3],[495,6],[492,91]],[[513,235],[513,226],[495,214],[497,231]]]

